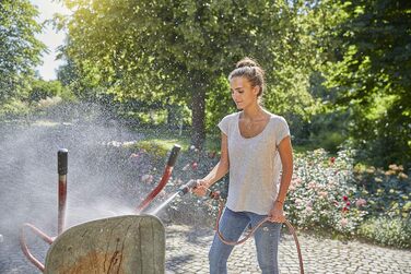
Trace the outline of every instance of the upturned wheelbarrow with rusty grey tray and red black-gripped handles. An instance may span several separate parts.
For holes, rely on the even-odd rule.
[[[155,216],[144,209],[167,183],[180,146],[175,145],[158,184],[137,206],[136,215],[96,219],[64,230],[67,201],[68,151],[58,155],[58,226],[57,237],[49,237],[32,224],[23,224],[20,243],[26,258],[43,273],[165,273],[165,229]],[[30,251],[25,229],[31,229],[50,245],[45,263]]]

